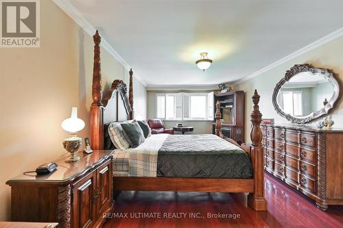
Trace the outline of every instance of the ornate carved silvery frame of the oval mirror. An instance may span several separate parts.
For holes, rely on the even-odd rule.
[[[311,112],[307,116],[303,117],[297,117],[297,116],[291,116],[290,114],[286,114],[283,112],[279,104],[277,103],[277,96],[279,94],[279,91],[283,84],[285,84],[289,79],[294,77],[298,73],[302,72],[308,72],[311,73],[311,75],[322,75],[324,79],[327,79],[331,85],[333,86],[333,95],[331,96],[331,99],[328,101],[322,109],[316,111],[316,112]],[[338,81],[335,79],[332,73],[329,73],[328,69],[324,68],[314,68],[311,67],[309,64],[296,64],[292,66],[288,71],[285,73],[285,77],[281,79],[278,84],[276,84],[276,87],[274,88],[274,93],[272,96],[272,103],[274,105],[274,108],[276,112],[285,117],[287,121],[291,121],[292,123],[298,123],[298,124],[303,124],[303,123],[308,123],[309,121],[313,121],[316,118],[319,118],[320,116],[327,114],[331,108],[334,107],[335,102],[338,100],[338,97],[340,95],[340,85],[338,84]]]

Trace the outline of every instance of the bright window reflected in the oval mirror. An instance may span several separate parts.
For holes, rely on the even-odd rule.
[[[300,90],[283,90],[283,112],[292,116],[303,115],[303,93]]]

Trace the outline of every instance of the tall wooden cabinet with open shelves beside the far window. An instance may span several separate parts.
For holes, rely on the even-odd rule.
[[[220,102],[222,114],[222,134],[232,138],[238,144],[244,142],[244,91],[231,91],[214,94],[214,103]],[[214,107],[213,113],[216,112]],[[212,133],[215,134],[215,121],[212,123]]]

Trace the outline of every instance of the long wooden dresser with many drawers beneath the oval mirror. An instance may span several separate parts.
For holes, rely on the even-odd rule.
[[[264,169],[316,201],[320,210],[343,205],[343,129],[261,125]]]

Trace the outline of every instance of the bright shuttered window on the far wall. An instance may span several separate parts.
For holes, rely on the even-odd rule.
[[[213,92],[156,94],[156,117],[167,121],[213,121]]]

